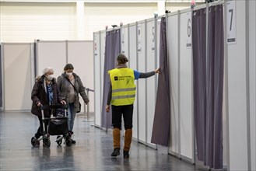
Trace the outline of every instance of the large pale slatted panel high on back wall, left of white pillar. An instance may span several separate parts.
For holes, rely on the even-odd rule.
[[[1,2],[0,37],[4,42],[75,40],[75,10],[75,3]]]

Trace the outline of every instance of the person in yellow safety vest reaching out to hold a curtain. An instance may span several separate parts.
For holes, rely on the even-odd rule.
[[[132,113],[133,103],[135,101],[135,79],[146,79],[156,73],[160,73],[160,68],[153,72],[138,72],[127,68],[128,59],[124,54],[117,56],[117,68],[108,72],[110,75],[110,89],[107,96],[106,111],[110,111],[110,103],[112,109],[112,126],[114,152],[111,156],[120,155],[120,130],[121,117],[124,118],[124,158],[129,158],[129,150],[132,143]]]

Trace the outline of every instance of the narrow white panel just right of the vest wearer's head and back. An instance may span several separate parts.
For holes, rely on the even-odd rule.
[[[136,40],[136,25],[129,26],[129,58],[128,65],[129,68],[137,70],[137,40]],[[135,85],[137,81],[135,81]],[[133,131],[132,137],[138,138],[138,110],[137,110],[137,101],[138,101],[138,91],[136,91],[135,103],[133,106]]]

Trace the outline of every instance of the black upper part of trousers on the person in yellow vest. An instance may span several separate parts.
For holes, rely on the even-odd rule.
[[[112,126],[121,129],[121,117],[124,117],[124,129],[132,129],[133,104],[112,106]]]

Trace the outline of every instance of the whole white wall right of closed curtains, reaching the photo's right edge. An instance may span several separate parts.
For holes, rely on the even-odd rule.
[[[228,7],[235,12],[235,24],[227,24],[237,30],[236,42],[227,45],[229,169],[254,170],[256,65],[255,15],[251,15],[255,14],[255,2],[233,1]]]

